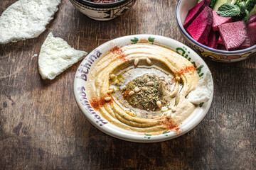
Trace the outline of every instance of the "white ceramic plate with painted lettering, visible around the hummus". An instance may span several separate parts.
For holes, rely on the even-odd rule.
[[[193,129],[198,125],[198,123],[203,120],[208,109],[210,108],[210,103],[213,99],[213,93],[210,97],[210,100],[203,104],[203,106],[196,108],[193,113],[183,121],[181,125],[176,128],[176,130],[171,130],[167,132],[163,132],[160,135],[147,135],[137,132],[130,132],[127,130],[123,130],[118,128],[111,123],[107,123],[107,120],[102,118],[102,115],[98,115],[96,111],[90,106],[90,102],[88,101],[87,94],[85,93],[85,89],[87,89],[87,79],[92,67],[95,63],[103,57],[105,53],[109,52],[113,47],[118,46],[122,47],[124,45],[132,44],[132,39],[137,38],[138,40],[141,39],[148,39],[148,38],[155,38],[154,42],[157,44],[165,45],[167,47],[171,47],[176,52],[181,54],[183,57],[186,57],[191,62],[195,62],[197,67],[203,65],[201,72],[199,72],[200,76],[203,76],[204,73],[210,72],[206,63],[201,59],[201,57],[196,54],[191,48],[183,45],[181,42],[173,40],[171,38],[166,38],[159,35],[128,35],[122,38],[117,38],[114,40],[110,40],[105,42],[103,45],[100,45],[95,50],[90,52],[87,57],[81,62],[80,67],[78,67],[78,71],[75,74],[74,80],[74,93],[75,93],[75,100],[78,103],[78,106],[82,113],[85,114],[87,120],[90,120],[92,125],[95,125],[96,128],[102,130],[102,132],[107,133],[113,137],[117,137],[121,140],[127,140],[132,142],[160,142],[164,140],[171,140],[175,137],[181,136],[188,132],[189,130]],[[94,56],[94,57],[92,57]],[[95,60],[95,57],[97,59]],[[93,59],[93,60],[92,60]],[[82,68],[85,64],[87,64],[87,70],[85,72],[81,72]],[[88,65],[90,64],[90,66]]]

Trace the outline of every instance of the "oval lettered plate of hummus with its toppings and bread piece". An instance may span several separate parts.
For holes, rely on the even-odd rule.
[[[213,98],[213,79],[201,57],[181,42],[129,35],[87,55],[74,92],[82,113],[103,132],[159,142],[200,123]]]

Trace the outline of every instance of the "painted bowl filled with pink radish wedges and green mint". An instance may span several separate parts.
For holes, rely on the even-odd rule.
[[[238,62],[256,54],[256,0],[180,0],[176,20],[201,57]]]

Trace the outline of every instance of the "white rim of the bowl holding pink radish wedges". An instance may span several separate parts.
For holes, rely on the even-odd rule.
[[[252,47],[248,47],[242,50],[233,50],[233,51],[228,51],[228,50],[218,50],[218,49],[214,49],[211,47],[208,47],[206,45],[201,44],[200,42],[197,42],[196,40],[194,40],[191,35],[189,35],[186,30],[183,28],[183,25],[181,24],[181,18],[178,16],[178,12],[179,12],[179,6],[181,5],[181,1],[183,0],[179,0],[178,4],[176,6],[176,21],[178,23],[178,27],[180,28],[181,32],[186,35],[186,37],[191,40],[193,43],[195,43],[196,45],[205,48],[206,50],[212,51],[212,52],[217,52],[217,53],[221,53],[221,54],[227,54],[227,55],[233,55],[233,54],[238,54],[238,53],[244,53],[244,52],[250,52],[251,50],[255,50],[256,49],[256,45],[252,45]]]

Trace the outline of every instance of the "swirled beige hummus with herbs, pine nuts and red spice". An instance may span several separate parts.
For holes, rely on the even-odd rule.
[[[92,67],[87,95],[108,122],[134,132],[181,125],[198,105],[186,96],[199,81],[196,68],[168,47],[137,43],[115,47]]]

